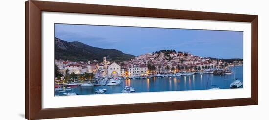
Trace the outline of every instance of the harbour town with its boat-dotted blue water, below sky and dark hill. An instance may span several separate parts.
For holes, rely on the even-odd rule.
[[[160,50],[129,60],[55,59],[55,96],[243,88],[243,59]]]

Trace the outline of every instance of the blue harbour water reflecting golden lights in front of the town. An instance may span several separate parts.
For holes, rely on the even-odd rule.
[[[234,68],[231,68],[234,70]],[[243,67],[235,67],[235,78],[243,82]],[[91,86],[91,87],[76,87],[70,92],[75,92],[78,95],[95,94],[96,89],[106,88],[106,94],[121,93],[126,85],[135,89],[136,92],[160,92],[160,91],[182,91],[182,90],[207,90],[211,89],[211,85],[218,85],[220,89],[230,89],[230,84],[233,82],[234,72],[230,75],[214,75],[214,74],[197,74],[191,76],[180,77],[164,77],[164,78],[149,78],[149,79],[126,79],[121,85],[114,86]],[[244,86],[244,85],[243,85]],[[241,86],[240,88],[243,88]],[[56,93],[57,94],[57,93]]]

